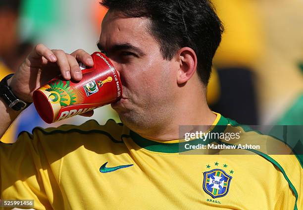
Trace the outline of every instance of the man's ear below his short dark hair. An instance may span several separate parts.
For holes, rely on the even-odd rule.
[[[183,84],[187,82],[197,70],[197,55],[192,48],[183,47],[178,50],[176,56],[180,67],[177,72],[177,83]]]

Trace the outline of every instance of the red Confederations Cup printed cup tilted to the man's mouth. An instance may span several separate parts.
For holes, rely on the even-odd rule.
[[[94,67],[86,69],[80,63],[80,82],[58,76],[34,91],[34,105],[45,122],[54,123],[121,99],[121,81],[109,59],[100,52],[92,57]]]

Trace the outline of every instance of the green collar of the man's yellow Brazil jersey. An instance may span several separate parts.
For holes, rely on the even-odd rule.
[[[221,115],[218,123],[214,126],[214,128],[210,131],[210,133],[223,133],[228,123],[229,123],[228,119]],[[130,131],[130,137],[140,147],[153,152],[162,152],[162,153],[185,152],[191,150],[191,149],[185,149],[185,144],[190,143],[190,145],[200,145],[200,144],[205,145],[215,141],[214,139],[211,140],[195,139],[191,141],[178,142],[178,143],[161,143],[161,142],[145,139],[133,131]]]

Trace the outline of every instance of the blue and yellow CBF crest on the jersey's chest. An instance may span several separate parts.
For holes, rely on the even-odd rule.
[[[204,172],[203,190],[212,198],[223,197],[228,193],[232,177],[221,169]]]

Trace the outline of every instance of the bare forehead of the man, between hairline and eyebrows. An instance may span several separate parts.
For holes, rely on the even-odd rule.
[[[116,43],[130,43],[140,47],[155,42],[148,32],[150,20],[146,18],[129,18],[120,12],[106,13],[102,25],[100,43],[104,47]]]

